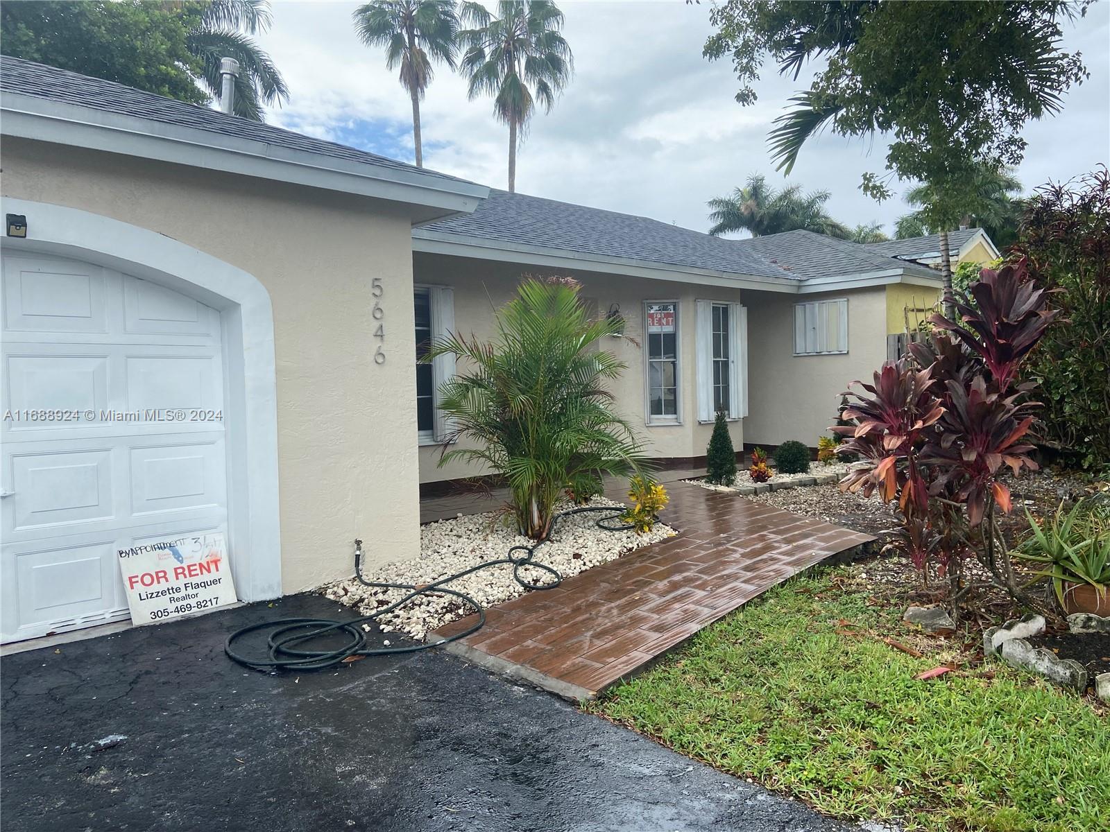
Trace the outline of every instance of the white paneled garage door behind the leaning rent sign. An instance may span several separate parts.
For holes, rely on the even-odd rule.
[[[117,549],[226,530],[220,315],[22,254],[0,303],[3,640],[125,619]]]

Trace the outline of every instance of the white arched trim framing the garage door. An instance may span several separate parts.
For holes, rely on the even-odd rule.
[[[273,310],[251,274],[148,229],[78,209],[3,199],[27,216],[9,251],[83,260],[159,283],[220,311],[226,398],[228,534],[239,597],[281,595]]]

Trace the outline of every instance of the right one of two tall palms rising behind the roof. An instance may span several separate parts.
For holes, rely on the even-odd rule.
[[[516,146],[538,103],[551,112],[573,72],[571,47],[559,34],[563,12],[551,0],[501,0],[497,17],[464,2],[460,32],[467,95],[493,97],[493,112],[508,124],[508,190],[516,190]]]

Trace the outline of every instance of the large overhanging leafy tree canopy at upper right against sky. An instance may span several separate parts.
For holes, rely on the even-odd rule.
[[[967,211],[967,182],[980,165],[1016,165],[1021,128],[1058,111],[1063,92],[1088,77],[1078,53],[1060,49],[1061,23],[1092,0],[1015,2],[805,2],[727,0],[710,20],[710,59],[729,55],[741,104],[766,57],[800,77],[825,59],[797,108],[777,120],[771,152],[789,172],[804,142],[823,128],[845,136],[889,133],[886,173],[864,190],[890,195],[889,181],[926,182],[931,227]]]

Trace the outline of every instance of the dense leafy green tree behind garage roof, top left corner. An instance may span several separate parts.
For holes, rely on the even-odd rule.
[[[203,64],[188,43],[203,12],[201,2],[3,3],[3,53],[203,104],[193,80]]]

